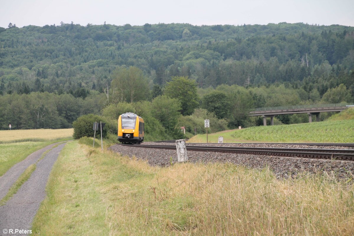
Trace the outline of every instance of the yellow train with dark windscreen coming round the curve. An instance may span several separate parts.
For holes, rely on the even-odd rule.
[[[121,114],[118,118],[118,141],[123,144],[141,143],[144,141],[144,128],[144,120],[137,114]]]

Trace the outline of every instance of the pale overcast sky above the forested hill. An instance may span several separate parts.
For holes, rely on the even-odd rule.
[[[8,23],[144,25],[145,23],[354,26],[354,0],[0,0],[0,27]]]

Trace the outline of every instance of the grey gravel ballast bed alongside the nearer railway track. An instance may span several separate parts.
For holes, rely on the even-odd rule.
[[[144,142],[149,145],[173,145],[173,143],[153,143]],[[187,144],[189,145],[189,144]],[[198,144],[208,145],[210,144]],[[214,144],[217,146],[217,144]],[[298,146],[284,144],[223,144],[223,146],[253,146],[253,147],[274,147],[274,148],[332,148],[332,149],[349,149],[346,147],[323,147],[323,146]],[[154,148],[137,148],[133,146],[122,146],[120,144],[113,145],[109,148],[114,152],[118,152],[123,156],[133,157],[146,160],[152,166],[169,166],[171,163],[177,162],[176,150],[164,150]],[[316,172],[335,172],[339,178],[348,177],[354,174],[353,161],[337,161],[337,160],[320,160],[300,157],[282,157],[282,156],[265,156],[251,154],[233,154],[222,152],[201,152],[187,151],[188,161],[196,162],[229,162],[235,165],[244,165],[249,168],[261,169],[269,166],[278,178],[288,178],[289,175],[296,177],[299,172],[307,171],[310,173]]]

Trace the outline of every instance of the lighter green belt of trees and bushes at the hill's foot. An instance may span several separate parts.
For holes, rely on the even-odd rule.
[[[144,118],[151,139],[169,139],[182,138],[182,126],[187,136],[192,136],[195,128],[197,133],[204,133],[204,119],[211,120],[212,132],[262,125],[261,117],[248,116],[250,108],[340,102],[353,102],[344,84],[320,96],[316,89],[308,93],[289,84],[199,88],[195,80],[175,76],[165,86],[154,85],[151,90],[142,70],[119,67],[113,71],[112,81],[103,93],[91,91],[85,98],[48,92],[0,96],[0,123],[2,129],[8,123],[15,129],[69,128],[81,115],[99,114],[113,127],[120,114],[134,112]],[[307,119],[306,114],[279,115],[276,123],[307,122]]]

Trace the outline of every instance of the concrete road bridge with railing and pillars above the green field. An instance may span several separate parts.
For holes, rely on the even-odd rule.
[[[275,115],[307,113],[309,116],[309,122],[311,123],[313,115],[316,116],[316,121],[320,121],[321,112],[342,111],[349,107],[354,107],[354,105],[350,105],[347,103],[336,103],[289,107],[256,108],[249,112],[249,116],[263,116],[263,125],[266,126],[267,117],[270,117],[270,125],[273,125],[273,118]]]

